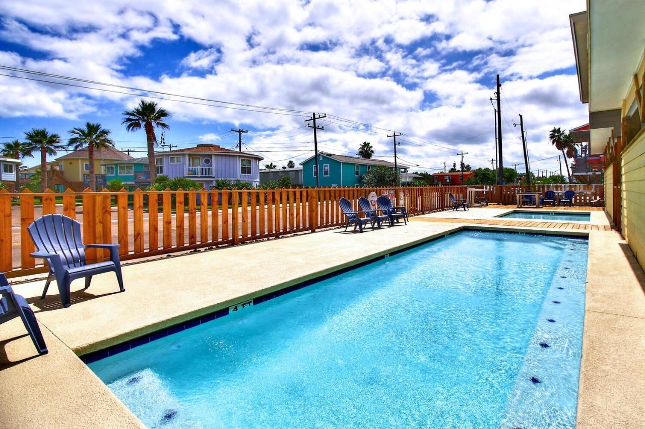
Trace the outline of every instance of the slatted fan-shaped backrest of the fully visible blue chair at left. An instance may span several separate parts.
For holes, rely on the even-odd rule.
[[[57,253],[66,267],[85,265],[81,224],[63,214],[45,214],[27,227],[38,251]]]

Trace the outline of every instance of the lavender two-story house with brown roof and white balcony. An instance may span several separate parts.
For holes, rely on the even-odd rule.
[[[260,183],[260,161],[252,153],[222,148],[217,144],[198,144],[195,148],[155,153],[157,175],[185,177],[211,189],[217,179],[242,180],[253,186]]]

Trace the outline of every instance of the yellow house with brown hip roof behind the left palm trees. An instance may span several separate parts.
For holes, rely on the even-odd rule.
[[[126,159],[134,158],[115,148],[95,149],[94,174],[105,175],[105,167],[101,166],[101,163]],[[90,172],[90,160],[88,158],[87,148],[79,149],[56,158],[54,165],[66,181],[63,185],[71,187],[74,191],[82,191],[84,189],[86,177]],[[100,188],[100,181],[101,178],[97,177],[97,188]]]

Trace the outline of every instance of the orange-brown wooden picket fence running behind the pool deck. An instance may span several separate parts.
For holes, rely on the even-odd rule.
[[[358,209],[358,198],[371,192],[389,195],[410,214],[441,211],[452,207],[448,193],[466,198],[469,187],[473,186],[81,193],[0,190],[0,271],[8,277],[47,271],[41,260],[30,256],[34,245],[27,232],[28,225],[43,214],[61,213],[79,220],[84,243],[119,243],[121,259],[132,260],[339,226],[345,222],[339,198],[348,198]],[[527,189],[484,188],[489,201],[502,204],[513,204],[515,192]],[[602,196],[602,186],[595,189],[593,196]],[[89,262],[108,257],[103,250],[86,252]]]

